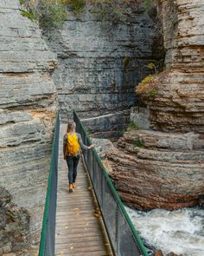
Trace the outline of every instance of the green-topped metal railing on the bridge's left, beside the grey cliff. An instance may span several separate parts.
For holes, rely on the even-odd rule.
[[[44,208],[43,222],[41,228],[41,242],[39,256],[54,256],[55,244],[55,213],[57,196],[57,170],[58,170],[58,149],[59,149],[60,118],[57,115],[54,140],[52,147],[51,162],[48,175],[48,188]]]

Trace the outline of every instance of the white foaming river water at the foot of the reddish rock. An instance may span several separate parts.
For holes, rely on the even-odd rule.
[[[163,253],[204,256],[204,208],[140,212],[125,207],[144,243]]]

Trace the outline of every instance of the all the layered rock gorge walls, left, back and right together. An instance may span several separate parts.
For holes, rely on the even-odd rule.
[[[119,194],[140,209],[194,206],[204,194],[203,3],[164,0],[161,8],[169,70],[157,76],[158,93],[143,99],[151,130],[129,130],[109,154]],[[0,255],[34,255],[56,102],[64,121],[73,108],[81,118],[112,114],[86,124],[96,135],[119,135],[145,65],[163,57],[160,25],[143,10],[105,27],[91,10],[70,11],[48,49],[18,0],[0,0],[0,10]]]

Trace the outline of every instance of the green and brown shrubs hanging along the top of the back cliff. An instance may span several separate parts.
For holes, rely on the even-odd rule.
[[[156,0],[142,0],[142,6],[147,8]],[[103,23],[124,22],[125,14],[129,7],[137,9],[141,6],[137,1],[132,0],[20,0],[26,10],[22,10],[22,15],[33,20],[39,19],[41,28],[50,30],[52,27],[61,27],[66,16],[67,6],[71,7],[75,14],[81,13],[86,3],[91,6],[95,16]],[[38,4],[37,4],[38,3]],[[127,6],[128,8],[125,8]],[[128,11],[127,11],[128,12]]]

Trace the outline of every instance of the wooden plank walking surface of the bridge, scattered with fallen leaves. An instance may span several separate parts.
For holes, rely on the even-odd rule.
[[[77,187],[73,193],[68,192],[67,163],[62,157],[62,138],[65,131],[66,126],[61,125],[55,255],[112,255],[103,220],[100,216],[94,216],[98,205],[81,160],[78,167]]]

